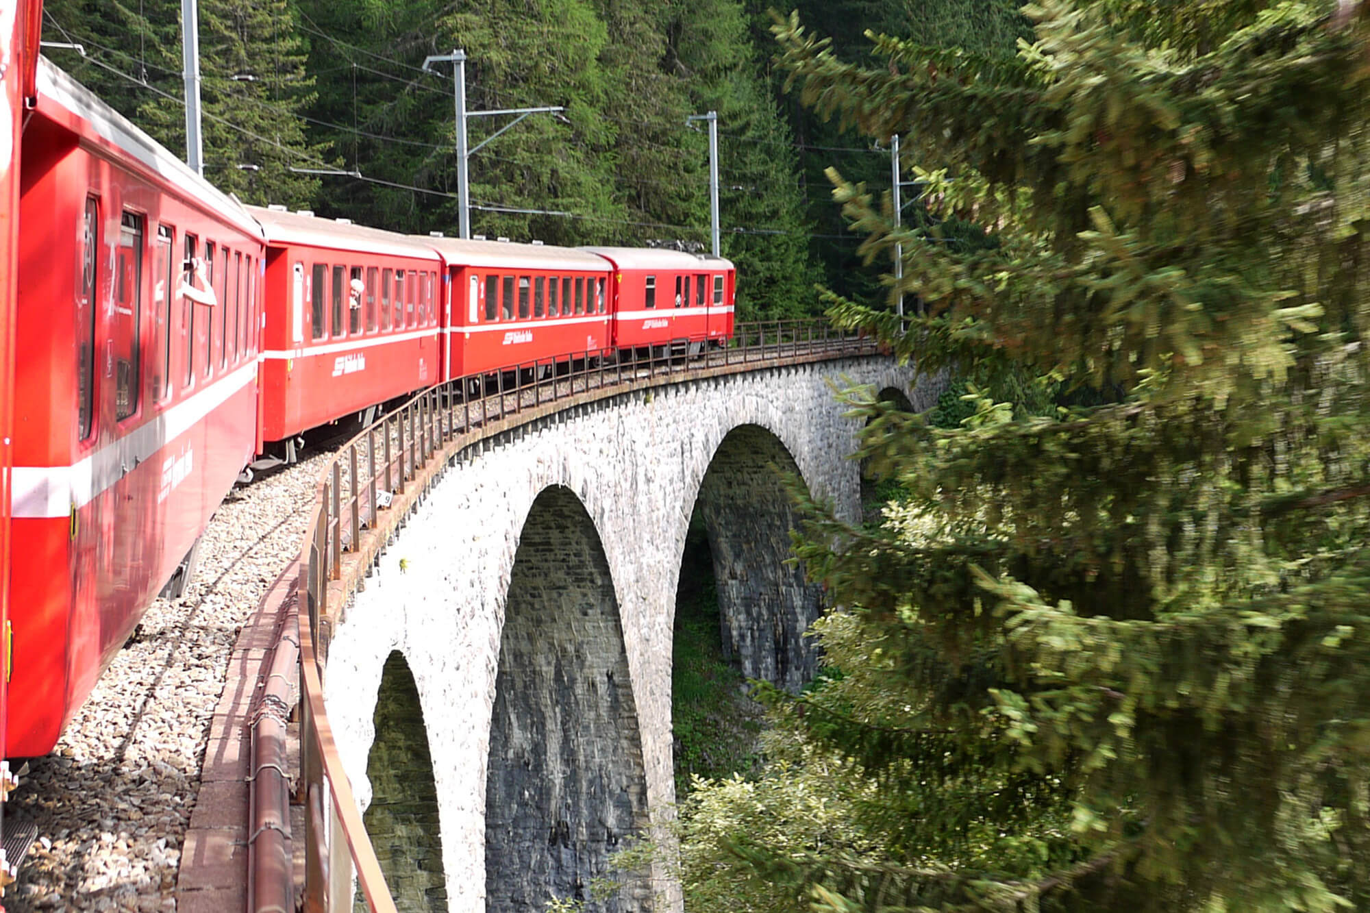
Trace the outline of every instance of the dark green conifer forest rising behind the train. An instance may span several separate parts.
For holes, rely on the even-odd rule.
[[[467,110],[562,106],[470,159],[473,233],[548,244],[708,249],[708,141],[719,117],[722,252],[741,319],[822,310],[815,284],[884,303],[823,171],[888,189],[888,145],[844,132],[784,89],[771,0],[201,0],[206,177],[256,204],[397,232],[458,233],[451,67]],[[866,29],[1010,49],[1030,34],[1003,0],[801,0],[848,59]],[[167,148],[185,148],[181,4],[51,0],[44,40],[67,69]],[[785,10],[788,12],[788,8]],[[474,147],[508,117],[469,121]],[[329,174],[332,173],[332,174]],[[917,207],[917,203],[911,204]]]

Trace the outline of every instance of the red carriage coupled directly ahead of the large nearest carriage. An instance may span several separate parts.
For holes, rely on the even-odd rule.
[[[293,461],[300,432],[440,380],[443,263],[427,239],[248,211],[267,241],[260,452]]]

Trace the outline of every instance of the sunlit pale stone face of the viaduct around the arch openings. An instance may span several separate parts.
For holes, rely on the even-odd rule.
[[[689,517],[721,444],[740,426],[764,429],[754,440],[773,437],[810,489],[855,520],[859,476],[847,454],[859,422],[843,415],[829,381],[907,388],[911,377],[892,359],[867,358],[625,393],[469,451],[434,485],[348,607],[330,646],[325,690],[344,765],[366,807],[381,672],[392,650],[407,658],[427,722],[452,910],[474,913],[486,905],[486,790],[501,629],[534,500],[548,488],[566,488],[603,544],[627,668],[619,701],[626,706],[630,696],[637,711],[647,807],[669,814],[675,587]],[[910,399],[923,409],[938,392],[937,382],[925,381]],[[717,515],[736,522],[740,514]],[[745,539],[737,537],[740,551],[729,559],[736,568],[749,565]],[[769,561],[770,551],[758,561]],[[659,879],[651,888],[660,894],[658,910],[680,909],[677,886]]]

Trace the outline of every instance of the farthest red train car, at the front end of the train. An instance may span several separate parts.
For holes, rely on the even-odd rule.
[[[586,247],[614,265],[614,345],[619,352],[722,344],[733,334],[734,269],[729,260],[681,251]]]

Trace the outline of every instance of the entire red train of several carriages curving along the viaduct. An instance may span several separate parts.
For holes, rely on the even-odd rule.
[[[733,330],[725,259],[244,207],[47,62],[21,173],[5,757],[52,748],[234,480],[301,432]]]

